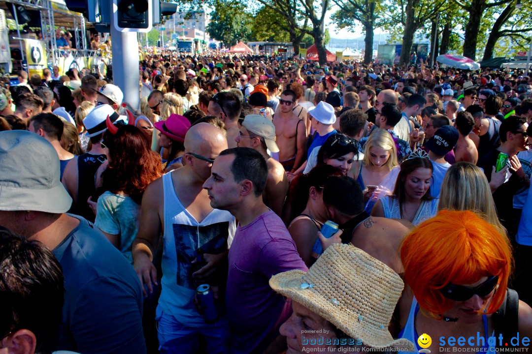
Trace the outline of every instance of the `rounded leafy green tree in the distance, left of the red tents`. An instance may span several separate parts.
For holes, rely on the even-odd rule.
[[[211,13],[207,32],[211,38],[232,46],[238,41],[251,38],[252,14],[244,11],[245,5],[238,0],[217,0]]]

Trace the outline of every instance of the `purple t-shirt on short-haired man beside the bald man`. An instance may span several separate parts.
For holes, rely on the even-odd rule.
[[[272,275],[293,269],[307,271],[276,213],[266,212],[238,226],[229,249],[226,291],[231,353],[262,352],[279,334],[292,305],[268,282]]]

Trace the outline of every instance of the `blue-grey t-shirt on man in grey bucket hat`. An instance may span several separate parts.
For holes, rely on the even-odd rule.
[[[63,322],[57,350],[146,353],[142,291],[133,267],[84,218],[53,250],[63,268]]]

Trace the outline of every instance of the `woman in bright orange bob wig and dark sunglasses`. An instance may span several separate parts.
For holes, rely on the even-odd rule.
[[[508,237],[477,214],[441,211],[412,230],[400,251],[408,287],[398,305],[399,338],[418,343],[418,351],[495,352],[517,332],[532,336],[532,309],[507,289]],[[420,344],[421,335],[432,341]]]

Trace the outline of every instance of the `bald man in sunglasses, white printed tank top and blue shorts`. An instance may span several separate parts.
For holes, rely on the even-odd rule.
[[[194,305],[200,284],[216,288],[227,277],[235,218],[211,208],[202,188],[211,176],[212,162],[225,149],[227,140],[218,127],[194,125],[185,136],[184,167],[156,179],[144,192],[132,255],[140,282],[152,293],[157,285],[153,255],[163,235],[162,292],[156,314],[161,352],[195,353],[202,337],[207,352],[229,348],[227,319],[206,324]]]

